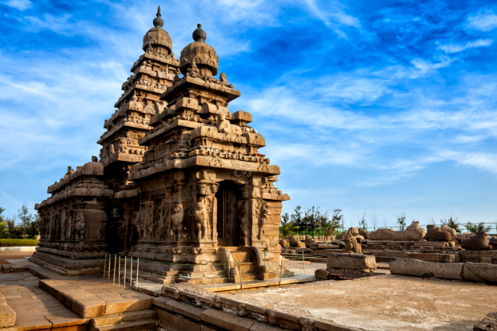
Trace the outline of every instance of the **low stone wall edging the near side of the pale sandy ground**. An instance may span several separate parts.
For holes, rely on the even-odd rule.
[[[163,286],[153,299],[160,325],[156,330],[359,331],[315,318],[305,310],[283,309],[266,301],[216,294],[194,284]]]

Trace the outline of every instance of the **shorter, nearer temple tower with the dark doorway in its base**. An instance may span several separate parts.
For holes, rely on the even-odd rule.
[[[168,111],[151,118],[153,130],[139,141],[147,151],[129,174],[140,200],[133,218],[140,252],[131,255],[161,252],[161,260],[201,265],[245,252],[246,262],[265,256],[278,269],[281,201],[288,200],[273,187],[280,169],[258,152],[266,144],[248,125],[251,115],[227,108],[240,92],[224,73],[213,77],[219,60],[200,24],[192,37],[181,52],[184,76],[160,96]],[[255,269],[259,278],[271,274]]]

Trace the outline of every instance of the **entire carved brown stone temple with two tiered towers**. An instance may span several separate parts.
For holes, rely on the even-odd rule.
[[[106,254],[126,252],[159,283],[277,276],[290,199],[273,185],[280,169],[260,154],[251,114],[229,111],[240,91],[224,72],[214,78],[219,59],[202,26],[179,60],[160,8],[153,26],[105,120],[99,159],[68,167],[35,206],[41,240],[31,260],[94,274]]]

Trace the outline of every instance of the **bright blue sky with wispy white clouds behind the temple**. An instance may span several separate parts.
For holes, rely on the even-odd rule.
[[[229,108],[280,166],[284,211],[496,221],[493,1],[1,1],[6,215],[99,155],[159,4],[178,57],[202,23],[241,91]]]

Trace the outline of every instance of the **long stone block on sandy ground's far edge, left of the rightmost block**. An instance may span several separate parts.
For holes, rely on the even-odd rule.
[[[464,263],[424,262],[417,259],[391,259],[391,274],[422,276],[432,272],[439,279],[462,279]],[[497,267],[497,266],[496,266]]]

